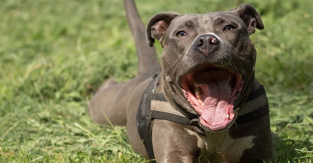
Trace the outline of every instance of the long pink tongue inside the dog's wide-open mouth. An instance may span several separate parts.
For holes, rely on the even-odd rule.
[[[204,101],[201,117],[211,126],[221,125],[227,119],[230,79],[231,74],[225,70],[207,70],[193,78],[194,84],[201,88],[201,98]]]

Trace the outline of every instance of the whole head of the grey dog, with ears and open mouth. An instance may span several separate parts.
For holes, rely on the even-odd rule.
[[[168,94],[200,115],[207,130],[224,130],[236,118],[234,107],[252,82],[256,51],[249,35],[255,28],[264,27],[249,4],[208,14],[162,12],[147,24],[149,45],[158,39],[164,49],[161,66]]]

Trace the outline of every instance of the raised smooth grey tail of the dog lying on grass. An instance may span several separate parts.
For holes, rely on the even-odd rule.
[[[146,42],[146,29],[140,20],[134,0],[124,0],[126,17],[134,37],[138,56],[138,74],[152,75],[161,70],[155,49]]]

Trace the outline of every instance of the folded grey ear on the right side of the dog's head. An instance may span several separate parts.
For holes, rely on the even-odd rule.
[[[244,21],[244,24],[247,26],[250,35],[255,32],[255,28],[259,30],[264,29],[259,13],[250,4],[241,4],[238,8],[230,10],[230,12],[239,15],[239,17]]]

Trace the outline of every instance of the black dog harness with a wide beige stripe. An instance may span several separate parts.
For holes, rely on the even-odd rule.
[[[136,117],[138,133],[141,140],[143,140],[150,160],[155,159],[152,146],[153,119],[163,119],[200,128],[197,115],[187,112],[175,101],[172,101],[172,103],[177,109],[173,108],[163,93],[155,91],[160,76],[158,74],[153,76],[152,82],[143,94]],[[260,86],[257,90],[250,93],[237,113],[237,124],[249,122],[269,113],[269,104],[264,87]],[[156,161],[151,162],[156,163]]]

